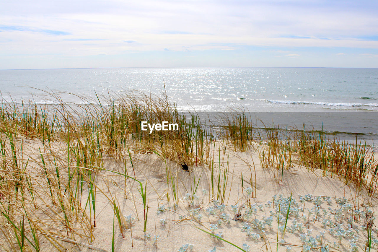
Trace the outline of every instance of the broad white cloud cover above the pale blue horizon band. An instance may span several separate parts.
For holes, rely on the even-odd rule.
[[[377,49],[378,41],[361,39],[378,34],[378,16],[373,7],[353,1],[328,4],[316,0],[3,1],[0,55],[87,56],[164,48],[193,51],[271,47],[266,51],[302,57],[295,54],[297,48]],[[11,26],[30,29],[12,31]],[[33,29],[67,35],[54,36]]]

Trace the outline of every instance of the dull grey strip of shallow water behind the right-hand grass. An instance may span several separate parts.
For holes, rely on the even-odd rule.
[[[197,113],[201,123],[214,126],[224,125],[222,118],[231,114]],[[378,143],[378,112],[247,112],[247,116],[255,128],[324,131],[329,138],[336,136],[339,141],[356,142],[357,138],[358,144],[361,140],[361,144]],[[187,118],[191,118],[189,113]]]

